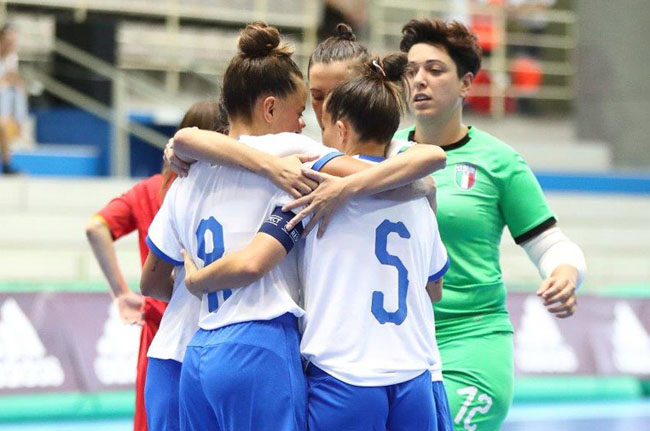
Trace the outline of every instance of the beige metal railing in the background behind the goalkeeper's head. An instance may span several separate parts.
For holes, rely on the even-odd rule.
[[[371,0],[371,45],[380,51],[392,51],[398,46],[396,39],[401,35],[401,29],[409,17],[447,17],[458,13],[458,7],[453,2],[442,0]],[[492,33],[493,47],[489,58],[484,58],[482,69],[489,73],[489,84],[475,84],[471,95],[490,98],[490,113],[500,118],[505,114],[508,98],[526,97],[538,100],[573,100],[575,89],[573,85],[574,66],[570,59],[576,47],[576,15],[568,10],[535,10],[519,11],[516,14],[503,6],[491,6],[471,3],[464,13],[471,19],[481,16],[489,20]],[[547,24],[559,24],[563,29],[561,34],[528,34],[509,31],[509,24],[515,20],[534,19]],[[392,38],[392,40],[391,40]],[[538,47],[562,51],[560,61],[536,60],[542,76],[557,76],[564,82],[560,84],[542,84],[531,90],[511,85],[509,74],[514,72],[516,65],[508,56],[509,47]]]

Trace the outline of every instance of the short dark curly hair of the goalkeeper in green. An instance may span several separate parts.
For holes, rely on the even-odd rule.
[[[445,48],[462,78],[467,72],[474,76],[481,68],[481,47],[471,30],[458,21],[440,19],[412,19],[402,27],[402,52],[409,52],[416,43],[428,43]]]

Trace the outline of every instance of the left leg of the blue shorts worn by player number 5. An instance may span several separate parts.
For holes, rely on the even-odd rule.
[[[386,430],[385,387],[349,385],[310,365],[307,388],[309,431]]]

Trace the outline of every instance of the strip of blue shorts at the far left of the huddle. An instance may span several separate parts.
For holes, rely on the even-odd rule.
[[[180,430],[178,384],[182,363],[173,359],[148,358],[144,386],[147,428],[155,431]]]

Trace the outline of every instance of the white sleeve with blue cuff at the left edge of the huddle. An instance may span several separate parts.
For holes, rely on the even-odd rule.
[[[174,181],[169,188],[162,206],[156,213],[149,233],[147,235],[147,245],[160,259],[174,265],[183,265],[183,255],[181,249],[183,244],[177,229],[174,202],[180,181]]]

